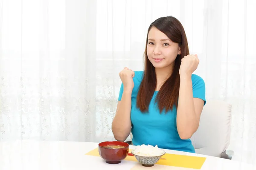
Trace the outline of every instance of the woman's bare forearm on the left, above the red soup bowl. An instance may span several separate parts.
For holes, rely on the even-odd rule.
[[[118,141],[125,141],[131,133],[131,92],[124,91],[112,122],[112,132]]]

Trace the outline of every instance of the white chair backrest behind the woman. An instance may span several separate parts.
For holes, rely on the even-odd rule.
[[[232,105],[223,101],[207,101],[198,130],[190,138],[195,152],[221,157],[230,144]]]

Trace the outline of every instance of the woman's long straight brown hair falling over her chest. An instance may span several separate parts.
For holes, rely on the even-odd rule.
[[[179,20],[175,17],[161,17],[155,20],[148,28],[148,32],[152,27],[156,27],[159,31],[166,34],[172,42],[179,44],[181,54],[177,55],[175,59],[175,66],[172,70],[172,75],[164,82],[160,88],[156,101],[158,103],[158,108],[160,113],[165,109],[165,111],[172,110],[178,105],[178,96],[180,90],[180,64],[181,59],[189,55],[189,47],[186,38],[184,28]],[[146,48],[144,52],[145,57],[145,70],[143,75],[143,80],[140,84],[140,89],[137,96],[137,108],[141,112],[148,112],[148,106],[154,95],[154,91],[157,85],[157,77],[155,73],[155,68],[148,59],[147,55],[147,45],[148,45],[148,34],[146,40]]]

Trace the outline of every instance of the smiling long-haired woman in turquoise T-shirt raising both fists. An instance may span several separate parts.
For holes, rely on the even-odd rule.
[[[204,80],[192,74],[197,55],[190,55],[183,26],[175,17],[161,17],[148,28],[145,70],[124,68],[112,132],[134,145],[195,153],[189,139],[198,129],[206,103]]]

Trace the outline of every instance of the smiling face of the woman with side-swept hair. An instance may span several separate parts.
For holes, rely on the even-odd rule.
[[[166,34],[152,27],[148,32],[148,59],[155,68],[173,67],[178,54],[178,43],[172,42]]]

